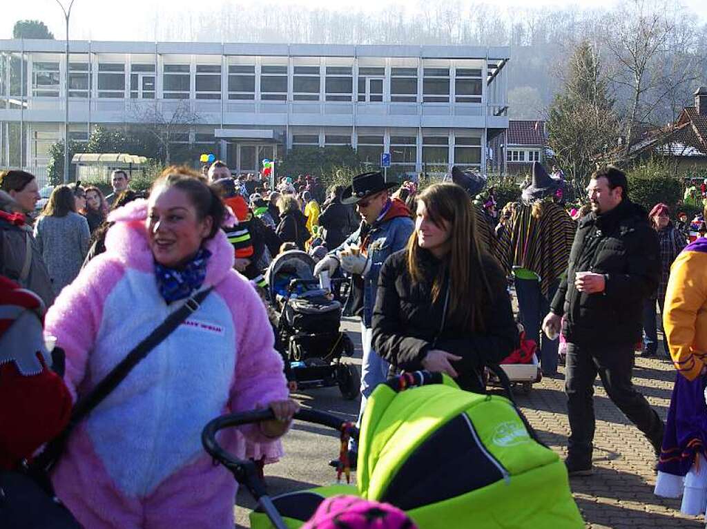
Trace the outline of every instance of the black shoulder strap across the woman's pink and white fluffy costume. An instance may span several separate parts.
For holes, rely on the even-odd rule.
[[[157,327],[153,332],[150,333],[142,342],[137,344],[137,346],[130,351],[122,361],[117,364],[112,371],[108,373],[103,380],[101,380],[95,388],[86,395],[83,399],[76,403],[74,406],[74,411],[71,413],[71,420],[66,426],[66,429],[62,431],[57,438],[54,438],[48,445],[47,448],[42,452],[42,454],[35,459],[34,465],[42,470],[49,470],[61,455],[64,450],[64,445],[66,440],[69,438],[69,434],[74,430],[76,425],[86,418],[90,412],[95,409],[105,397],[110,395],[110,393],[117,388],[119,383],[121,383],[133,370],[133,368],[139,364],[139,362],[144,359],[150,351],[157,347],[161,342],[165,340],[172,332],[179,327],[182,322],[184,322],[189,315],[194,313],[199,309],[201,303],[204,301],[206,296],[214,289],[213,286],[208,289],[202,290],[194,296],[187,299],[187,301],[175,312],[168,315],[167,318]]]

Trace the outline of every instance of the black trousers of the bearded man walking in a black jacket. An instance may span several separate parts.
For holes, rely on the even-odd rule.
[[[645,397],[631,383],[633,346],[612,348],[580,347],[567,344],[565,392],[571,434],[568,455],[582,462],[592,460],[594,439],[594,381],[597,374],[607,395],[633,424],[660,450],[663,423]]]

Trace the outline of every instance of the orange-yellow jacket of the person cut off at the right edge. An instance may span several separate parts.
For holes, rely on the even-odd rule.
[[[694,380],[707,364],[707,240],[698,239],[670,268],[663,327],[677,371]]]

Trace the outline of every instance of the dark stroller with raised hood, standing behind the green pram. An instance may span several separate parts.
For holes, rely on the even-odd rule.
[[[320,288],[314,265],[306,252],[291,250],[268,269],[269,296],[279,313],[277,347],[298,388],[338,385],[344,398],[355,399],[361,378],[356,366],[341,361],[342,355],[354,354],[354,342],[339,330],[341,303]]]

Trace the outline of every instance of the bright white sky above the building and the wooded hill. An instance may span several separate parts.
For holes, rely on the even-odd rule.
[[[65,6],[71,0],[60,0]],[[194,6],[198,11],[212,10],[218,13],[229,0],[75,0],[71,11],[71,39],[91,40],[154,40],[154,33],[146,35],[146,28],[154,26],[157,13],[168,10],[170,13],[189,12]],[[422,0],[418,0],[422,1]],[[483,0],[474,0],[476,4]],[[460,1],[468,6],[474,1]],[[302,5],[309,8],[333,9],[335,11],[364,11],[368,14],[381,11],[391,6],[405,5],[407,13],[414,13],[416,1],[402,0],[265,0],[266,4]],[[41,20],[49,26],[57,39],[64,38],[64,16],[57,0],[4,0],[0,17],[0,38],[11,38],[12,27],[18,20]],[[262,0],[231,1],[235,6],[262,5]],[[573,2],[579,8],[609,8],[615,0],[579,0]],[[506,8],[509,13],[514,9],[553,8],[570,5],[561,0],[493,0],[493,5]],[[707,1],[682,0],[682,5],[699,16],[702,23],[707,23]],[[267,14],[264,14],[267,16]]]

